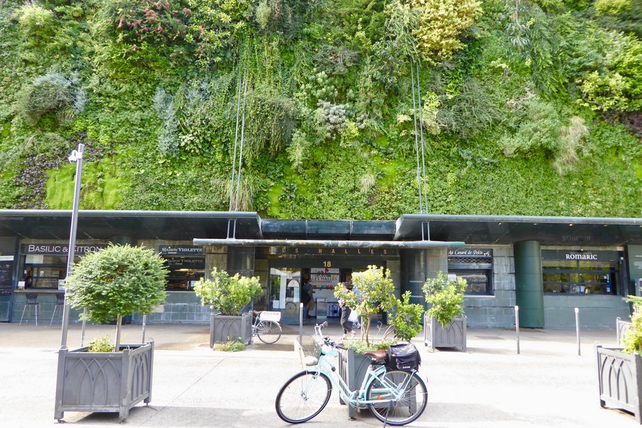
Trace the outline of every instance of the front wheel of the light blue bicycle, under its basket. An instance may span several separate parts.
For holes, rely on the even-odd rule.
[[[277,415],[291,424],[306,422],[328,404],[332,384],[328,376],[316,371],[302,371],[288,380],[277,395]]]

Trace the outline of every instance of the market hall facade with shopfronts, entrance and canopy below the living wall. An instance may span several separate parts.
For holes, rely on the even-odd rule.
[[[0,322],[60,323],[71,211],[0,210]],[[193,286],[212,268],[258,276],[256,310],[297,322],[311,279],[318,318],[338,317],[333,287],[368,266],[390,271],[398,295],[437,272],[468,282],[470,328],[614,328],[640,295],[642,220],[404,214],[396,221],[274,220],[255,212],[80,211],[76,260],[109,243],[166,260],[167,301],[147,322],[205,324]],[[26,304],[30,304],[27,305]],[[79,311],[73,310],[71,322]],[[140,322],[136,314],[131,322]]]

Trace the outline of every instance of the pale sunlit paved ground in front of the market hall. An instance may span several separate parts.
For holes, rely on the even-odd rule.
[[[338,326],[330,326],[340,337]],[[125,326],[123,342],[139,343],[140,326]],[[113,326],[89,326],[86,342]],[[277,391],[296,373],[293,340],[286,326],[274,345],[240,353],[212,351],[208,326],[147,326],[156,342],[152,403],[131,409],[130,427],[286,427],[274,410]],[[304,326],[311,333],[311,326]],[[614,346],[614,331],[469,330],[468,352],[434,351],[414,341],[428,380],[428,407],[413,427],[638,427],[629,413],[602,409],[598,400],[594,344]],[[0,425],[48,427],[53,419],[59,326],[0,324]],[[68,346],[80,346],[80,326],[71,326]],[[118,425],[117,413],[66,412],[67,426]],[[381,426],[368,411],[349,420],[333,393],[311,427]]]

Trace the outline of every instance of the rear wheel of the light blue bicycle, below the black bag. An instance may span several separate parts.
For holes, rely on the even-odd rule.
[[[374,417],[395,426],[406,425],[419,418],[428,403],[428,389],[419,375],[409,371],[389,370],[369,384],[366,390],[367,400],[390,400],[392,394],[388,385],[407,387],[399,400],[369,404],[368,408]]]

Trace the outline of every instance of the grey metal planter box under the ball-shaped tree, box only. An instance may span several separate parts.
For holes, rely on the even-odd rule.
[[[55,419],[65,411],[118,412],[120,420],[141,401],[152,400],[154,341],[121,345],[121,352],[58,352]]]

